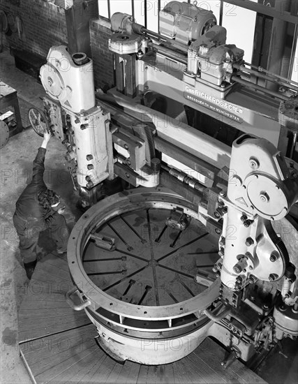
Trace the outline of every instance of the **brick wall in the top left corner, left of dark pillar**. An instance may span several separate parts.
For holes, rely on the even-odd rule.
[[[19,16],[24,25],[25,39],[17,32],[5,36],[5,45],[47,57],[52,45],[67,45],[65,10],[43,0],[1,0],[0,9]]]

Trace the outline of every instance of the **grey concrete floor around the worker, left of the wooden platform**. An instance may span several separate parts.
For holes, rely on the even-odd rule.
[[[40,97],[45,96],[43,87],[33,77],[24,74],[14,66],[14,59],[8,51],[0,53],[1,80],[17,89],[20,100],[42,108]],[[23,124],[28,126],[29,124]],[[27,293],[28,279],[24,272],[18,237],[13,227],[15,202],[31,178],[32,161],[43,141],[32,128],[22,131],[8,140],[1,149],[1,383],[31,383],[19,355],[17,344],[17,310]],[[64,145],[52,138],[47,147],[45,160],[45,182],[57,191],[66,205],[66,221],[73,227],[75,216],[80,216],[77,201],[68,174],[68,163],[64,158]],[[40,257],[54,249],[46,237],[40,237]]]

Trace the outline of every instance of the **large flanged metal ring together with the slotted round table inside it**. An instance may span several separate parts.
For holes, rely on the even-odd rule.
[[[165,227],[177,208],[191,216],[180,233]],[[96,238],[115,239],[116,249],[96,246]],[[177,337],[206,325],[201,311],[218,311],[216,260],[217,244],[195,205],[161,188],[101,200],[77,221],[68,242],[70,274],[82,300],[91,301],[88,316],[128,337]]]

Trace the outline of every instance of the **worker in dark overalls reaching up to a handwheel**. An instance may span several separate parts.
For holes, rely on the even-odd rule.
[[[57,252],[64,253],[67,249],[68,228],[60,207],[57,193],[47,189],[43,181],[45,172],[45,153],[51,133],[45,132],[43,144],[33,161],[33,176],[30,184],[22,192],[15,205],[13,223],[20,238],[20,253],[28,279],[31,279],[36,267],[36,246],[40,232],[50,229],[52,239],[57,244]]]

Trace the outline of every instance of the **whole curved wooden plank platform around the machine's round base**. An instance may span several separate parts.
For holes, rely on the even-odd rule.
[[[265,383],[239,361],[223,369],[225,350],[209,338],[172,364],[119,364],[97,346],[96,327],[84,311],[66,304],[71,286],[66,258],[50,253],[38,263],[20,307],[20,350],[36,383]]]

